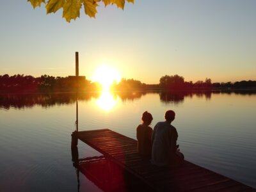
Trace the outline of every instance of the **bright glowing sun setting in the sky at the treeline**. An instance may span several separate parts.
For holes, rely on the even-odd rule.
[[[99,82],[102,85],[103,90],[109,90],[114,81],[119,83],[121,80],[121,76],[117,70],[108,65],[98,67],[92,78],[94,82]]]

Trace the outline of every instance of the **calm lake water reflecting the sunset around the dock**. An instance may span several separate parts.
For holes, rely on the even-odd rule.
[[[79,131],[109,128],[136,138],[173,109],[185,159],[256,188],[256,93],[83,93]],[[77,191],[71,136],[76,95],[0,95],[0,191]],[[99,155],[79,143],[79,157]],[[80,191],[100,191],[80,174]]]

